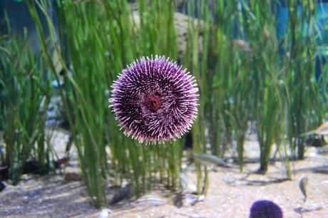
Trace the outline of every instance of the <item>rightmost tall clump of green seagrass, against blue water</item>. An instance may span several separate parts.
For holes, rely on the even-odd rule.
[[[315,16],[317,2],[289,0],[288,25],[283,63],[286,69],[287,136],[297,157],[304,157],[302,133],[321,123],[324,116],[319,83],[314,80],[316,38]],[[315,112],[316,115],[313,115]]]

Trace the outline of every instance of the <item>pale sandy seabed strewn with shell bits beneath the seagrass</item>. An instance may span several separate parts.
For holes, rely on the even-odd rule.
[[[61,150],[67,136],[56,134],[54,143]],[[256,147],[251,142],[245,145],[248,153]],[[61,151],[58,154],[62,155]],[[70,165],[66,172],[78,172],[76,160],[71,160]],[[167,191],[156,190],[150,193],[152,197],[147,198],[146,194],[140,198],[144,200],[123,199],[108,205],[112,211],[108,217],[246,218],[253,202],[268,199],[280,205],[284,217],[328,218],[328,155],[307,152],[304,160],[293,162],[293,180],[284,179],[282,162],[270,165],[266,175],[256,174],[258,167],[258,163],[246,163],[243,173],[237,166],[231,170],[215,168],[216,172],[209,172],[205,199],[193,206],[175,207]],[[195,172],[188,172],[188,176],[192,181]],[[303,176],[309,178],[306,202],[298,186]],[[6,189],[0,192],[0,217],[99,217],[102,209],[93,207],[81,181],[66,181],[62,175],[24,175],[19,185],[5,183]]]

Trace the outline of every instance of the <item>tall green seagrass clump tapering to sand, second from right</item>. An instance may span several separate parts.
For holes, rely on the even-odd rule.
[[[272,145],[282,137],[282,71],[275,36],[275,14],[271,2],[243,2],[244,31],[250,38],[252,63],[250,67],[251,111],[260,145],[260,172],[267,171]],[[268,13],[270,11],[270,13]],[[270,30],[270,31],[269,31]]]

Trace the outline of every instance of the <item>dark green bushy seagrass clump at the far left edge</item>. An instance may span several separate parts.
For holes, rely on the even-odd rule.
[[[53,169],[45,129],[52,90],[43,58],[34,53],[26,32],[19,37],[9,31],[1,36],[0,47],[0,131],[5,143],[0,165],[16,184],[26,173],[27,161],[37,162],[34,172]]]

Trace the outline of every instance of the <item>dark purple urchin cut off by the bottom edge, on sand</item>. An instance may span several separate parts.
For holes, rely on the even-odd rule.
[[[282,209],[268,200],[259,200],[250,208],[250,218],[282,218]]]

